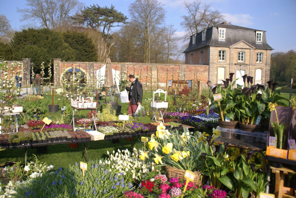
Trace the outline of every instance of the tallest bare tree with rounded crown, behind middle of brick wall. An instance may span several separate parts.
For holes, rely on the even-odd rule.
[[[157,0],[136,0],[129,5],[129,13],[137,28],[143,31],[144,62],[150,63],[151,35],[164,23],[165,10]]]

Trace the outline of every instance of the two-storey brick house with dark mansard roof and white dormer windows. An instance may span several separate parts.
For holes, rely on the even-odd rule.
[[[266,31],[221,23],[190,37],[184,51],[185,64],[208,65],[208,77],[213,84],[221,80],[253,76],[255,84],[266,85],[270,80],[271,48],[266,42]]]

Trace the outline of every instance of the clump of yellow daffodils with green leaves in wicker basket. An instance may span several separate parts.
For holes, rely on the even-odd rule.
[[[188,129],[184,129],[182,134],[177,130],[171,134],[160,123],[157,126],[156,136],[151,135],[148,138],[148,143],[144,145],[143,151],[141,150],[140,157],[145,160],[143,156],[146,156],[153,159],[159,166],[167,166],[179,171],[198,171],[204,164],[201,147],[202,143],[195,136],[191,136]]]

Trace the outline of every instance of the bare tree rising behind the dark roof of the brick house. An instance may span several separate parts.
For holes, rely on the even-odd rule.
[[[225,21],[220,11],[211,10],[211,4],[204,4],[201,0],[184,2],[184,5],[187,15],[182,16],[181,26],[190,34],[196,34],[200,30]]]

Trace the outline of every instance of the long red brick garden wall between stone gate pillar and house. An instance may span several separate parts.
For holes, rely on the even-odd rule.
[[[79,68],[84,70],[90,79],[94,81],[94,73],[106,63],[101,62],[63,62],[54,58],[54,81],[58,85],[61,82],[63,68]],[[167,87],[168,80],[192,80],[192,86],[196,86],[197,80],[202,80],[203,85],[209,79],[208,65],[180,65],[180,64],[157,64],[157,63],[111,63],[112,68],[120,75],[127,76],[134,74],[142,83],[144,88]]]

